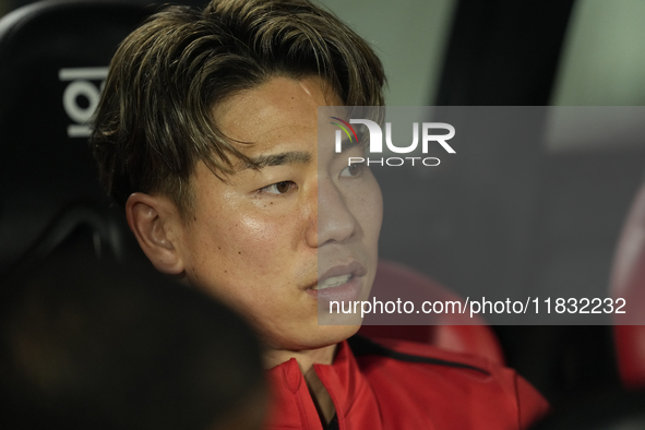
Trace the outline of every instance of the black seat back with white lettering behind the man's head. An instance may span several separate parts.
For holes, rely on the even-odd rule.
[[[126,1],[57,0],[0,20],[0,273],[47,248],[36,243],[46,229],[69,229],[55,220],[111,228],[86,223],[112,216],[87,121],[118,44],[150,12]],[[130,234],[122,211],[114,212],[123,238],[107,237],[122,253]]]

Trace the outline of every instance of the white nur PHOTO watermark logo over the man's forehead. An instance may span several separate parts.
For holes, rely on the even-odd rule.
[[[381,130],[381,127],[369,119],[350,119],[349,122],[342,120],[341,118],[337,117],[330,117],[334,120],[336,120],[337,122],[331,122],[334,126],[337,126],[341,128],[341,130],[336,130],[336,134],[335,134],[335,151],[336,153],[341,153],[342,152],[342,142],[343,142],[343,132],[345,132],[345,134],[347,135],[347,138],[349,139],[350,142],[356,142],[358,143],[358,135],[356,133],[356,130],[351,127],[351,124],[363,124],[366,126],[368,132],[369,132],[369,153],[370,154],[380,154],[383,153],[383,131]],[[385,123],[385,145],[387,146],[387,148],[395,153],[395,154],[409,154],[413,151],[415,151],[418,145],[419,145],[419,129],[421,130],[420,134],[421,134],[421,152],[423,154],[428,154],[428,147],[430,144],[432,143],[438,143],[439,145],[441,145],[441,147],[443,147],[443,150],[445,150],[446,153],[449,154],[455,154],[455,150],[447,143],[449,140],[451,140],[452,138],[454,138],[455,135],[455,128],[452,127],[449,123],[445,122],[422,122],[421,127],[419,128],[419,123],[418,122],[413,122],[413,143],[407,145],[407,146],[396,146],[394,145],[394,143],[392,142],[392,123],[391,122],[386,122]],[[432,130],[445,130],[447,131],[447,133],[444,134],[434,134],[433,132],[431,132]],[[437,157],[427,157],[427,158],[422,158],[421,157],[405,157],[401,158],[401,157],[389,157],[389,158],[362,158],[362,157],[349,157],[348,164],[356,164],[356,163],[367,163],[368,166],[370,164],[380,164],[381,166],[383,165],[387,165],[387,166],[403,166],[404,164],[406,164],[405,160],[409,160],[411,163],[411,165],[415,165],[415,160],[421,160],[421,164],[423,166],[439,166],[439,164],[441,163],[439,158]]]

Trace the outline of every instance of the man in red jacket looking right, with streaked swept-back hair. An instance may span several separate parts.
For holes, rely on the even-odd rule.
[[[115,56],[92,145],[155,267],[261,334],[272,428],[517,428],[546,402],[512,371],[353,351],[358,325],[318,325],[320,300],[368,297],[382,217],[373,176],[347,164],[363,148],[316,147],[318,107],[383,106],[383,84],[367,43],[307,0],[168,8]]]

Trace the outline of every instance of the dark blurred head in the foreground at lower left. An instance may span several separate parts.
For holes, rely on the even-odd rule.
[[[65,256],[1,295],[1,428],[261,428],[258,342],[199,291]]]

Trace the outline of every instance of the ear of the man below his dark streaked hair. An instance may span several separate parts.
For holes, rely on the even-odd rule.
[[[126,216],[139,246],[157,271],[181,274],[184,267],[178,239],[182,223],[177,206],[165,196],[135,192],[126,202]]]

